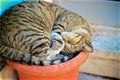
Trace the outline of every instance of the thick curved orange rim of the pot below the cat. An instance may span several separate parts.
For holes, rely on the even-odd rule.
[[[75,69],[79,69],[79,66],[86,61],[89,53],[86,51],[80,52],[76,57],[69,61],[49,66],[27,65],[12,62],[7,60],[9,66],[21,73],[34,74],[34,75],[58,75],[63,72],[69,72]]]

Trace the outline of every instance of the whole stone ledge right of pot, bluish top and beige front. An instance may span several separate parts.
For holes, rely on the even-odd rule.
[[[120,29],[90,25],[94,52],[80,71],[120,79]]]

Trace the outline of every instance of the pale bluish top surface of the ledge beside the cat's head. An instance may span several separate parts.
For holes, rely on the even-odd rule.
[[[90,25],[95,49],[120,53],[120,29],[103,25]]]

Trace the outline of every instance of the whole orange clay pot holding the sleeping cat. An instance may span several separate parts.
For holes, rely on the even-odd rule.
[[[79,67],[88,56],[87,52],[81,52],[67,62],[50,66],[30,66],[11,61],[7,63],[17,70],[20,80],[78,80]]]

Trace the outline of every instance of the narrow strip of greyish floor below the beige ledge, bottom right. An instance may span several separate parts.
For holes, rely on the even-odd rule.
[[[86,73],[80,73],[79,74],[79,80],[119,80],[119,79],[113,79],[113,78],[106,78]]]

